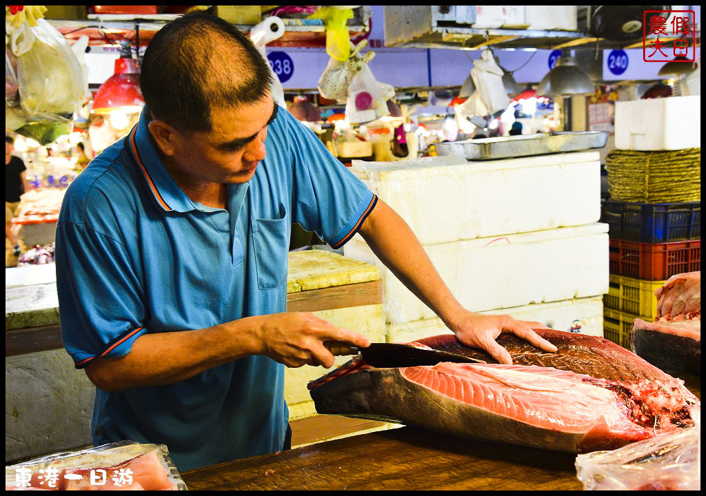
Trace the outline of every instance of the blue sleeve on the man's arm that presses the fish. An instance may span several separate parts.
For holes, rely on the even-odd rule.
[[[360,229],[377,197],[309,128],[285,114],[294,154],[293,218],[340,248]]]

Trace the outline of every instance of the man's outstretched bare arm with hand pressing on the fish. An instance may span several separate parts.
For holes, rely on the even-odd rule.
[[[502,332],[513,332],[544,351],[556,351],[556,346],[508,315],[481,315],[463,308],[441,280],[412,229],[382,200],[378,199],[359,233],[397,279],[465,344],[485,349],[498,362],[508,364],[512,363],[510,353],[495,341]]]

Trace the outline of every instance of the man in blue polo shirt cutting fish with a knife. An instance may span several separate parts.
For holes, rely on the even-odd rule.
[[[286,444],[284,365],[333,365],[369,341],[286,312],[290,226],[335,248],[356,232],[459,339],[510,363],[508,316],[471,313],[405,222],[273,102],[233,26],[189,14],[145,52],[146,106],[66,192],[56,231],[64,345],[96,385],[95,444],[167,444],[179,470]]]

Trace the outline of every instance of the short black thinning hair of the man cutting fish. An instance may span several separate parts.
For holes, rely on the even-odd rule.
[[[140,68],[152,116],[180,131],[211,131],[211,109],[260,102],[271,83],[268,62],[249,38],[203,12],[157,31]]]

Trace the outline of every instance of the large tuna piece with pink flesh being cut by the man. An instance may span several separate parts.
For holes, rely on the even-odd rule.
[[[558,353],[503,334],[498,342],[515,365],[372,368],[354,358],[311,382],[311,397],[318,413],[565,452],[614,449],[693,425],[690,409],[699,403],[680,380],[610,341],[536,330]],[[492,361],[451,334],[416,344]]]

